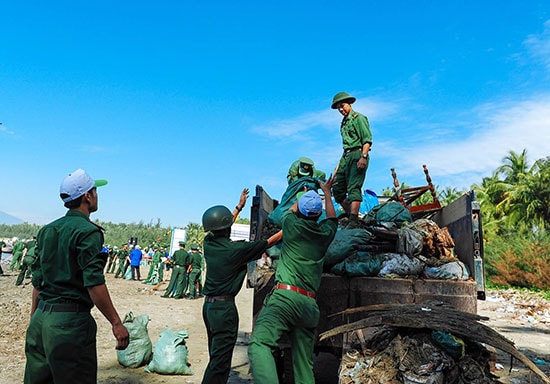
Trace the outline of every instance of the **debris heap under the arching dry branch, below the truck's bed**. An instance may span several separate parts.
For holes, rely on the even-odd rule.
[[[344,313],[364,317],[320,335],[346,334],[340,383],[500,383],[491,373],[496,349],[550,379],[514,343],[480,321],[487,318],[440,302],[374,305]]]

